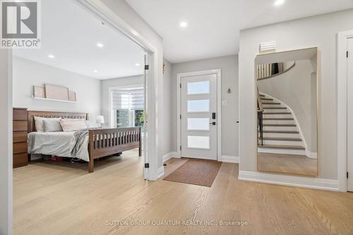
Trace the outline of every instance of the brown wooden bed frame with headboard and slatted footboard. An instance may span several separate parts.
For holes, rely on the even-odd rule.
[[[87,121],[89,119],[89,115],[86,113],[28,111],[28,133],[36,131],[34,116],[85,119]],[[88,162],[89,173],[93,172],[94,159],[116,155],[135,148],[138,148],[138,156],[142,155],[140,127],[88,129],[88,136],[88,153],[90,155],[90,162]]]

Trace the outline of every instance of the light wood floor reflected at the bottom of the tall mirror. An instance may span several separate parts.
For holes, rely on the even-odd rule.
[[[318,174],[318,160],[305,155],[258,152],[258,170],[316,176]]]

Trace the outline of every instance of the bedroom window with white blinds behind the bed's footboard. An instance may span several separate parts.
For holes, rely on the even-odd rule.
[[[141,88],[112,91],[114,126],[143,126],[144,92]]]

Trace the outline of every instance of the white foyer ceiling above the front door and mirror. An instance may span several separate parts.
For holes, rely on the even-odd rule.
[[[172,63],[238,54],[239,30],[353,8],[353,0],[126,0],[162,37]],[[180,28],[181,21],[189,26]],[[313,29],[314,30],[314,29]]]

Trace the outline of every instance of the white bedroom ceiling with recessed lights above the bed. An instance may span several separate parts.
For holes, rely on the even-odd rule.
[[[15,56],[98,79],[143,74],[143,50],[102,25],[75,1],[45,0],[41,3],[42,47],[18,49]],[[97,47],[97,42],[104,47]],[[49,59],[48,54],[55,58]]]

